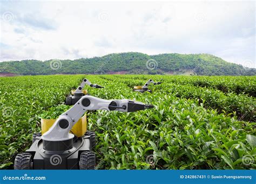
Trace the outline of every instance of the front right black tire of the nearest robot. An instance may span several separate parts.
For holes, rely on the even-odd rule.
[[[80,154],[79,169],[93,170],[96,166],[96,155],[92,151],[84,151]]]

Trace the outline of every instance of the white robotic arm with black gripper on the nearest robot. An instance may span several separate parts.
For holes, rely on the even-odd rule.
[[[72,108],[58,117],[51,128],[42,136],[43,140],[64,141],[74,137],[69,131],[87,110],[117,110],[121,112],[133,112],[153,108],[133,100],[104,100],[95,96],[83,96]]]

